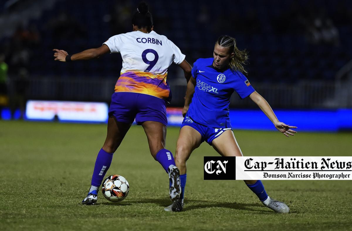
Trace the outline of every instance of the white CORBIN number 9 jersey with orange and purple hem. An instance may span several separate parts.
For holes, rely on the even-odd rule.
[[[185,55],[163,35],[133,31],[115,35],[106,44],[111,53],[120,53],[122,69],[115,92],[136,92],[167,99],[170,87],[167,71],[174,62],[180,64]]]

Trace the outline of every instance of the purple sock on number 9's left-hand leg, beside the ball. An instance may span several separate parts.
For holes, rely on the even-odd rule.
[[[104,176],[110,167],[112,156],[113,156],[113,153],[108,153],[103,149],[100,149],[98,156],[96,157],[93,176],[92,176],[93,186],[100,187],[101,182],[103,181]]]

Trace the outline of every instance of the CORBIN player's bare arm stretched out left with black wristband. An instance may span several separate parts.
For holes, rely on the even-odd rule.
[[[53,51],[55,51],[54,53],[55,61],[67,62],[67,61],[74,61],[74,60],[90,60],[93,58],[98,58],[103,54],[109,53],[110,49],[107,45],[103,44],[99,48],[84,50],[82,52],[73,54],[71,56],[69,56],[67,52],[64,50],[53,49]]]

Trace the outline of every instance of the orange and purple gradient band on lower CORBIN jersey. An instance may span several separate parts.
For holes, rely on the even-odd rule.
[[[120,75],[115,92],[136,92],[167,99],[170,87],[166,83],[167,73],[155,75],[144,71],[128,71]]]

